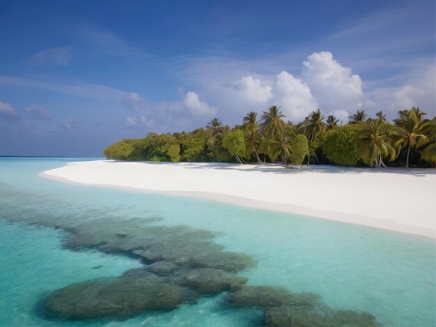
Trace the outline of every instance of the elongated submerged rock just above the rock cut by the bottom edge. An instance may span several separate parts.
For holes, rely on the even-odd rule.
[[[293,293],[284,287],[244,285],[228,295],[227,303],[235,307],[293,305],[312,308],[321,297],[313,293]]]

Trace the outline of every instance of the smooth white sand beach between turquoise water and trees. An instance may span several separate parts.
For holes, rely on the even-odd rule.
[[[42,177],[159,191],[436,237],[433,169],[84,161]]]

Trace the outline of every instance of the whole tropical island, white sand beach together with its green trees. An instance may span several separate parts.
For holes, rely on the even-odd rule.
[[[271,106],[260,121],[251,112],[233,128],[215,118],[192,132],[149,133],[107,147],[104,155],[116,160],[41,175],[436,237],[430,208],[410,205],[435,196],[435,118],[418,108],[398,115],[391,124],[381,112],[367,118],[358,111],[338,125],[318,110],[294,125]],[[302,169],[286,169],[294,167]]]

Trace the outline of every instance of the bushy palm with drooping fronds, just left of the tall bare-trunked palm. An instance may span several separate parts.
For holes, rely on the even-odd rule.
[[[383,159],[394,160],[397,156],[395,148],[391,145],[390,138],[396,129],[382,120],[371,120],[362,126],[359,137],[359,156],[370,166],[381,167]]]

